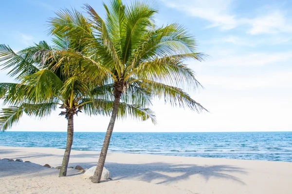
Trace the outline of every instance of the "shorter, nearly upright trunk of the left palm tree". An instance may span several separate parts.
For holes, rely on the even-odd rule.
[[[68,163],[69,163],[69,158],[70,158],[71,147],[73,143],[73,132],[74,132],[73,114],[70,114],[68,116],[67,145],[66,145],[59,177],[66,177],[67,175],[67,168],[68,168]]]

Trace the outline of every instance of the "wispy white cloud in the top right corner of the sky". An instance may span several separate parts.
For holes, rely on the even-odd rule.
[[[233,0],[161,0],[166,6],[186,12],[190,16],[199,17],[211,23],[210,27],[230,30],[238,26],[248,26],[249,34],[292,32],[292,20],[281,10],[267,9],[254,18],[238,17],[232,14]],[[270,11],[272,10],[272,11]]]

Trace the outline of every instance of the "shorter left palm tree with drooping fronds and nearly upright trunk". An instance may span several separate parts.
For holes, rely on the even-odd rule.
[[[89,72],[85,72],[83,67],[83,64],[86,64],[85,57],[80,53],[75,58],[73,56],[80,47],[65,37],[56,36],[53,39],[53,47],[42,41],[18,53],[0,45],[0,61],[5,61],[2,66],[12,69],[8,74],[16,76],[18,81],[0,83],[0,97],[4,99],[4,104],[10,105],[0,111],[0,130],[11,128],[23,113],[42,118],[54,112],[59,105],[60,109],[64,109],[59,115],[65,115],[68,120],[67,145],[59,177],[67,174],[73,144],[74,115],[81,110],[89,115],[110,115],[113,104],[109,89],[111,84],[100,77],[89,79]],[[69,57],[66,57],[67,55]],[[91,66],[91,71],[94,70],[96,65]],[[144,92],[143,95],[148,94]],[[119,116],[132,116],[139,120],[151,118],[155,122],[152,111],[143,108],[143,105],[129,105],[123,102],[119,106]]]

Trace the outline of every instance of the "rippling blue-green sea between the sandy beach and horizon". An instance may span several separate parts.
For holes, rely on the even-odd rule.
[[[100,151],[105,133],[74,132],[73,150]],[[66,146],[66,132],[0,133],[0,146]],[[292,132],[114,132],[109,152],[292,162]]]

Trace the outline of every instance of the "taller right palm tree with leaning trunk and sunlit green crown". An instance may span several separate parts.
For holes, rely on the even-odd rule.
[[[176,23],[156,26],[154,15],[157,10],[144,2],[124,5],[121,0],[110,0],[110,5],[104,4],[104,8],[107,13],[105,20],[85,4],[90,16],[88,24],[73,24],[68,18],[74,16],[66,11],[52,22],[53,34],[62,32],[72,38],[88,34],[81,38],[87,55],[103,66],[108,73],[108,81],[112,83],[112,113],[91,179],[94,183],[101,178],[121,98],[130,92],[128,88],[131,86],[147,91],[151,99],[163,99],[173,106],[186,107],[198,113],[205,110],[183,90],[201,87],[194,71],[183,63],[186,59],[204,59],[204,54],[196,50],[194,37]],[[83,29],[84,26],[87,26],[86,30],[75,33],[75,29]],[[139,98],[135,99],[140,104]]]

